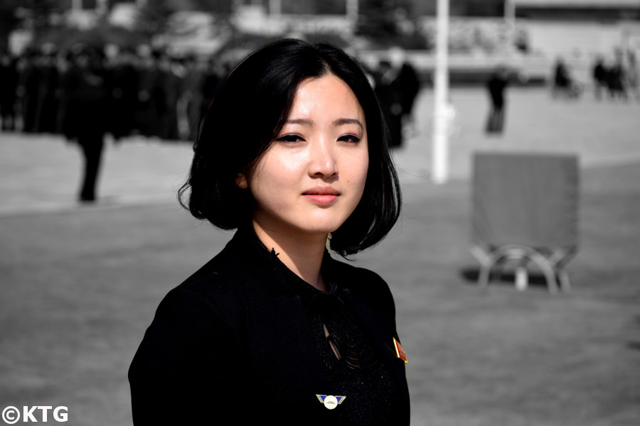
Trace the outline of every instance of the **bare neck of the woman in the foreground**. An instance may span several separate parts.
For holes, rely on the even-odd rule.
[[[312,234],[305,237],[292,236],[272,229],[265,229],[253,222],[258,239],[267,249],[274,249],[278,258],[293,273],[321,291],[326,291],[320,268],[326,247],[326,235]]]

